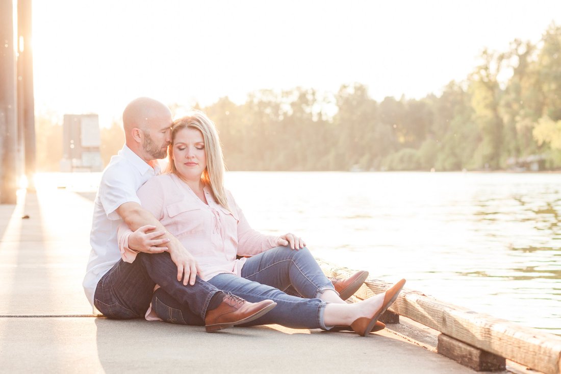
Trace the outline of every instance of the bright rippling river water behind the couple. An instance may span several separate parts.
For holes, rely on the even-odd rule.
[[[93,188],[99,174],[66,178]],[[226,185],[254,229],[295,232],[316,257],[561,335],[561,174],[228,172]]]

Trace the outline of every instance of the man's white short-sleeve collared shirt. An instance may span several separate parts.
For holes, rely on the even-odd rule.
[[[158,167],[154,170],[126,145],[111,158],[103,171],[94,202],[90,233],[91,252],[83,283],[86,297],[92,307],[99,280],[121,259],[117,227],[122,220],[116,209],[128,202],[140,204],[136,190],[157,174]],[[95,307],[94,314],[98,314]]]

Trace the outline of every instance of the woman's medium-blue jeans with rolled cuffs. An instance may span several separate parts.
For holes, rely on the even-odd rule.
[[[242,326],[278,323],[295,329],[327,329],[323,322],[327,303],[318,297],[326,289],[333,289],[333,284],[325,277],[307,248],[292,250],[289,247],[277,247],[267,250],[247,259],[241,277],[222,273],[208,282],[252,303],[265,299],[277,303],[269,313]],[[304,298],[281,291],[289,287]],[[158,289],[154,293],[152,307],[166,322],[203,324],[185,304],[175,300],[165,290]]]

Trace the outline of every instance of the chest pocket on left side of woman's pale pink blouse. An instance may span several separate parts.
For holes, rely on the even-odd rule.
[[[182,201],[168,205],[165,210],[168,213],[169,222],[164,226],[176,237],[204,231],[208,225],[208,217],[196,204]]]

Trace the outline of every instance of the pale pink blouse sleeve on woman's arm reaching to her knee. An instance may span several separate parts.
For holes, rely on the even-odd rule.
[[[254,256],[255,254],[265,252],[265,250],[278,247],[277,243],[279,236],[264,235],[261,234],[261,232],[252,229],[249,222],[247,222],[245,215],[243,215],[242,209],[238,207],[232,195],[230,193],[228,193],[228,195],[230,208],[232,208],[238,216],[237,254],[239,256]]]

